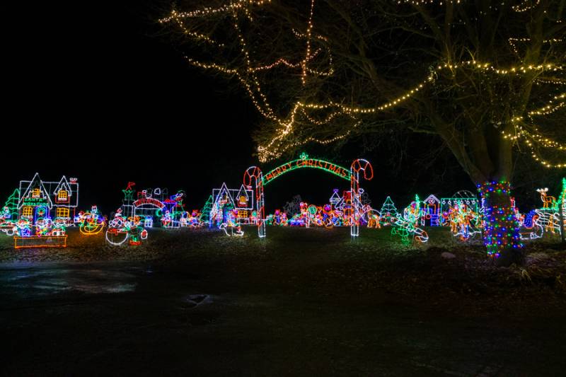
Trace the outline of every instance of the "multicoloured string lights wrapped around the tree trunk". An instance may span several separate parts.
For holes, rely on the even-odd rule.
[[[509,205],[511,184],[509,182],[485,182],[483,185],[478,184],[478,191],[484,204],[483,240],[487,254],[499,257],[504,249],[522,248],[519,223],[513,207]]]

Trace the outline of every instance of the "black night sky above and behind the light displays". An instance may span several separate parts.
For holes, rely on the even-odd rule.
[[[201,208],[221,182],[238,188],[248,166],[266,172],[286,161],[258,163],[251,134],[260,116],[243,91],[227,91],[225,79],[189,66],[173,42],[155,35],[163,14],[158,5],[14,7],[5,55],[1,202],[37,171],[44,180],[79,178],[81,209],[98,204],[106,214],[114,211],[128,181],[139,190],[185,190],[186,208]],[[408,154],[395,167],[387,141],[371,151],[362,139],[339,153],[312,146],[305,151],[345,167],[357,157],[371,161],[376,178],[362,187],[377,208],[386,195],[403,208],[415,193],[444,197],[473,190],[450,153],[432,166],[420,161],[441,146],[439,139],[403,138]],[[267,211],[296,194],[323,204],[333,188],[349,184],[320,170],[299,170],[267,187]],[[536,193],[524,200],[537,204]]]

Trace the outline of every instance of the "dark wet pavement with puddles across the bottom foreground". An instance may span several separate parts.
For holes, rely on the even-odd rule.
[[[268,271],[258,279],[189,270],[127,262],[1,265],[2,374],[558,376],[565,370],[564,323],[453,318],[394,294],[313,294],[300,283],[270,284]]]

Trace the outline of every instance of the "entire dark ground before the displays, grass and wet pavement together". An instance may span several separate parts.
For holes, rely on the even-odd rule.
[[[109,248],[0,239],[7,376],[564,376],[566,252],[494,267],[446,229],[150,232]],[[444,252],[454,254],[441,256]]]

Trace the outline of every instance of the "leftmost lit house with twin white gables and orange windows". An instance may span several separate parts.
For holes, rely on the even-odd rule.
[[[79,205],[79,183],[76,178],[61,178],[47,182],[35,173],[32,180],[20,181],[18,214],[35,225],[38,219],[52,219],[65,226],[73,225],[76,207]]]

